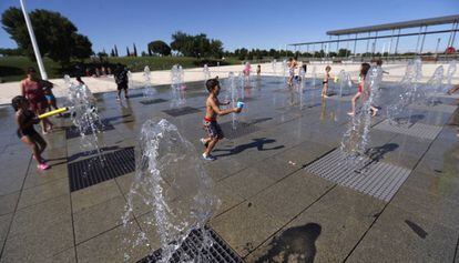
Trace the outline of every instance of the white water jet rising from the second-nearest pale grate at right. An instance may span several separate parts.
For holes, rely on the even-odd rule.
[[[419,58],[408,62],[405,75],[398,84],[398,100],[387,107],[387,118],[392,125],[410,125],[411,111],[408,115],[408,122],[404,123],[399,117],[406,112],[409,104],[416,101],[418,94],[418,81],[422,78],[422,62]]]

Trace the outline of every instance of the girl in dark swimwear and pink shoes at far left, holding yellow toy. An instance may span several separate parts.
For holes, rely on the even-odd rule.
[[[40,171],[49,169],[50,165],[41,156],[41,153],[47,148],[47,142],[33,128],[33,124],[38,124],[40,119],[37,118],[33,111],[29,110],[29,101],[26,97],[14,97],[11,104],[16,111],[16,122],[18,123],[17,134],[19,139],[32,150],[33,159],[39,163],[37,168]]]

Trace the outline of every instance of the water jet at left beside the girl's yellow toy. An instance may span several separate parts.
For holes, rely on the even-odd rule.
[[[103,125],[95,105],[95,98],[84,84],[75,84],[65,75],[64,81],[68,84],[68,102],[70,104],[70,114],[72,123],[78,130],[81,139],[81,149],[85,152],[95,151],[99,159],[102,160],[101,143],[98,134],[102,132]]]

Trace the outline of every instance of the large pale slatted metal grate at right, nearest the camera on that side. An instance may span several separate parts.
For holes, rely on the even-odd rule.
[[[389,202],[411,170],[366,158],[359,162],[347,161],[335,150],[305,168],[306,171],[341,186]]]

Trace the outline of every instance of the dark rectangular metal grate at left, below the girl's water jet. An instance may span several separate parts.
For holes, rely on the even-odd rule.
[[[74,192],[91,185],[135,171],[134,148],[93,156],[68,164],[70,191]]]

